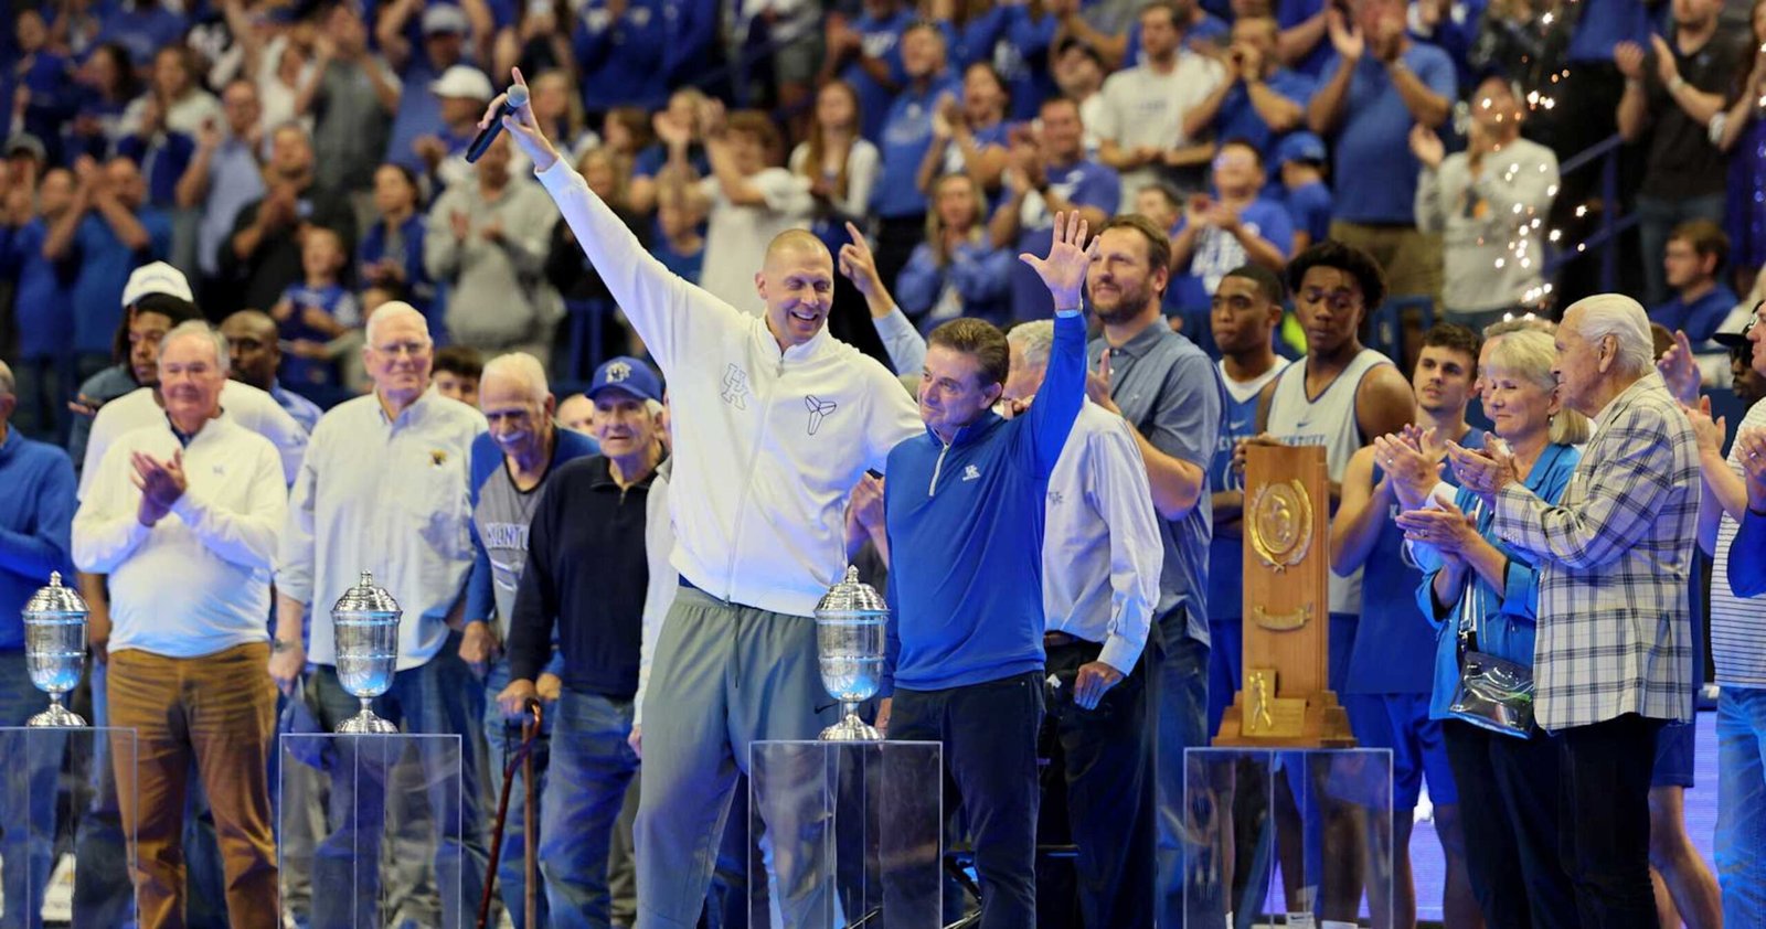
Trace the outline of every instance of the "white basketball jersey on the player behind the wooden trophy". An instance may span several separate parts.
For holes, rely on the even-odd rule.
[[[1369,371],[1392,364],[1392,359],[1363,348],[1337,380],[1317,397],[1307,397],[1307,366],[1296,362],[1282,371],[1270,397],[1268,433],[1287,445],[1319,445],[1324,449],[1324,470],[1342,482],[1349,457],[1362,449],[1362,426],[1355,419],[1355,396]],[[1335,514],[1333,514],[1335,516]],[[1362,615],[1362,570],[1347,578],[1330,572],[1330,611],[1335,615]]]

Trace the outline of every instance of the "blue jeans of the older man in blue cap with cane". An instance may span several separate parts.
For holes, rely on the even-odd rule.
[[[555,708],[551,770],[540,797],[540,874],[553,929],[608,929],[608,855],[625,788],[638,774],[632,701],[565,689]]]

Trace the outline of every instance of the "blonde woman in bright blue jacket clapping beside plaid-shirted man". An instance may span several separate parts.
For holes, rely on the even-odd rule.
[[[1551,373],[1552,337],[1522,330],[1485,343],[1480,364],[1483,408],[1515,454],[1519,477],[1556,503],[1588,440],[1588,420],[1558,404]],[[1397,445],[1381,442],[1381,450]],[[1415,463],[1415,461],[1413,461]],[[1418,473],[1413,468],[1400,470]],[[1432,475],[1427,468],[1423,473]],[[1400,500],[1420,500],[1432,477]],[[1441,491],[1445,493],[1445,491]],[[1399,516],[1423,569],[1416,600],[1438,627],[1429,717],[1445,721],[1448,765],[1460,789],[1471,890],[1491,925],[1577,925],[1570,880],[1558,858],[1558,747],[1551,735],[1494,733],[1448,714],[1459,685],[1460,618],[1476,620],[1480,652],[1533,666],[1538,574],[1491,530],[1492,514],[1471,491],[1450,505],[1439,496]]]

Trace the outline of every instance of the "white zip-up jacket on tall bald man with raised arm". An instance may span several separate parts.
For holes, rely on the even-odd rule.
[[[846,565],[853,484],[925,431],[913,397],[826,329],[779,351],[766,320],[671,274],[563,159],[539,178],[668,378],[669,562],[713,597],[809,616]]]

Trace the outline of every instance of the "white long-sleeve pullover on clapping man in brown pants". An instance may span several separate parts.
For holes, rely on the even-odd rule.
[[[170,461],[178,447],[161,415],[117,436],[87,472],[74,563],[109,574],[111,652],[192,659],[270,638],[270,567],[288,510],[275,449],[226,417],[208,420],[184,447],[184,496],[143,526],[129,456]]]

